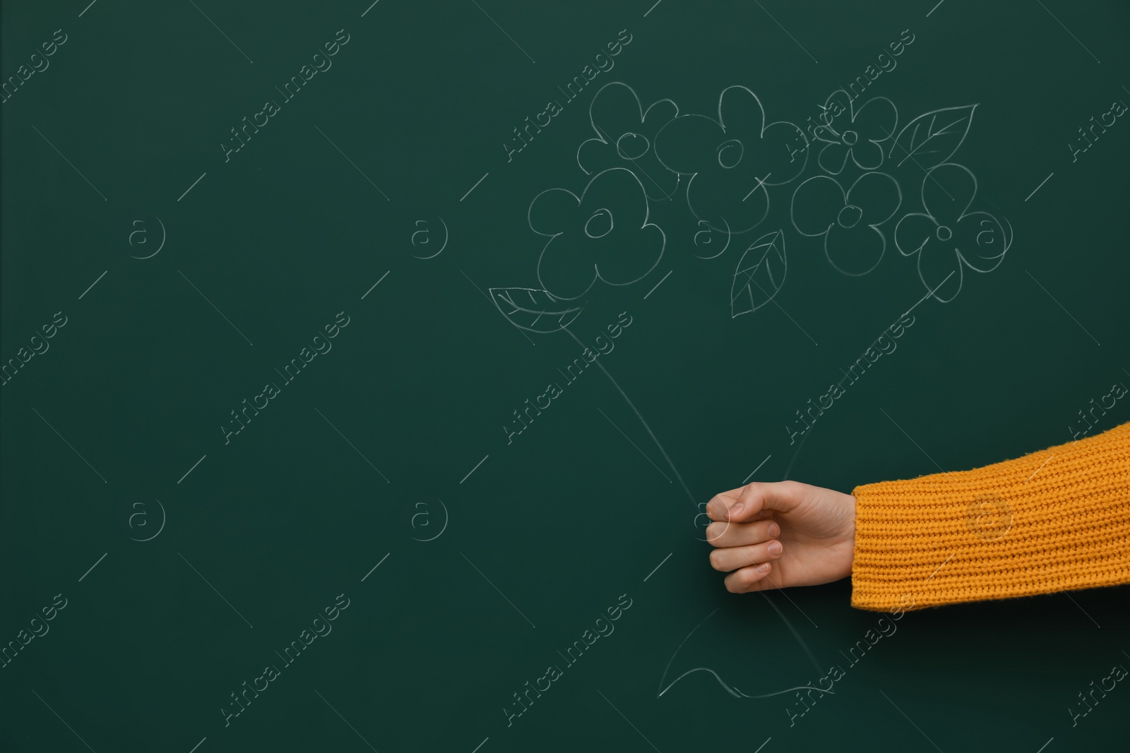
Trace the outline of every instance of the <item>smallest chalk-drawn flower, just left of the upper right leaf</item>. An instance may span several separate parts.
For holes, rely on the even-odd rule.
[[[864,170],[883,165],[881,142],[895,134],[898,111],[886,97],[868,99],[859,108],[843,89],[833,91],[824,105],[826,125],[815,130],[824,143],[817,160],[824,172],[840,175],[847,158]]]

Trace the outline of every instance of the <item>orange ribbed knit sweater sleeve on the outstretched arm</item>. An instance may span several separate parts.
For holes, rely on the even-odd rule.
[[[857,487],[852,606],[1130,583],[1130,423],[973,471]]]

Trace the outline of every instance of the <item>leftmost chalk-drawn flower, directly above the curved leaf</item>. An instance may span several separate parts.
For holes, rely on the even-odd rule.
[[[542,191],[530,203],[530,228],[549,237],[538,260],[538,281],[551,296],[580,298],[597,280],[637,282],[659,264],[667,236],[647,221],[647,196],[635,173],[598,173],[577,196]]]

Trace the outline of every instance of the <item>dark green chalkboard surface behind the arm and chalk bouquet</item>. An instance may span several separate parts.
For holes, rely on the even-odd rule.
[[[366,0],[3,5],[6,79],[54,29],[67,35],[50,68],[0,105],[3,361],[56,312],[67,323],[0,388],[0,639],[17,640],[56,594],[66,607],[0,669],[0,747],[1124,745],[1130,689],[1118,685],[1075,726],[1069,709],[1113,665],[1130,666],[1125,587],[909,614],[851,666],[842,653],[881,615],[852,610],[847,581],[733,596],[707,564],[695,515],[766,457],[755,479],[850,491],[1067,441],[1077,411],[1130,384],[1130,123],[1118,117],[1076,161],[1068,146],[1090,116],[1130,100],[1127,6],[652,1],[382,0],[367,12]],[[338,29],[349,41],[332,68],[225,163],[229,129],[280,100],[275,87]],[[631,42],[615,68],[564,102],[557,87],[620,29]],[[715,149],[730,134],[689,119],[657,140],[662,123],[636,115],[629,128],[617,87],[601,95],[598,111],[606,96],[612,104],[598,125],[657,146],[635,163],[597,155],[585,166],[629,167],[640,183],[607,174],[581,212],[555,201],[559,192],[534,202],[588,185],[577,148],[597,137],[589,111],[603,85],[629,85],[644,107],[670,98],[680,115],[715,119],[722,90],[744,86],[767,122],[803,126],[903,29],[912,44],[857,106],[888,98],[899,129],[962,111],[972,121],[956,152],[959,138],[945,137],[920,164],[899,164],[884,142],[883,187],[897,184],[902,202],[879,226],[886,253],[866,275],[841,274],[824,240],[798,231],[835,217],[818,198],[798,199],[790,218],[797,187],[823,173],[823,143],[790,165],[790,147],[768,143],[776,130],[757,143],[731,125],[746,151],[727,177],[748,170],[718,183]],[[512,129],[549,99],[562,112],[507,161]],[[676,180],[651,161],[657,149],[702,174]],[[767,217],[703,259],[725,245],[712,218],[757,219],[765,194],[740,201],[757,185],[749,176],[790,177],[805,154],[803,172],[768,187]],[[976,176],[968,211],[988,212],[962,231],[991,217],[981,255],[1011,245],[1000,260],[971,256],[992,271],[966,266],[959,295],[929,298],[895,228],[923,211],[927,169],[947,158]],[[932,173],[955,193],[936,213],[959,213],[970,191],[957,172]],[[849,161],[838,177],[846,187],[862,173]],[[646,211],[666,245],[640,229],[641,184],[661,200]],[[860,203],[884,201],[872,187]],[[615,234],[576,242],[601,207]],[[164,247],[137,259],[158,247],[160,224]],[[783,286],[732,316],[734,272],[766,248],[739,260],[779,230]],[[558,231],[539,281],[545,234]],[[421,259],[445,235],[443,252]],[[842,237],[829,255],[860,271],[873,263],[868,242]],[[564,301],[583,305],[567,332],[515,329],[487,299],[489,288],[542,282],[574,295],[594,260],[601,277],[635,281],[598,280]],[[928,281],[957,263],[930,260]],[[780,282],[780,268],[770,271]],[[793,411],[915,301],[897,350],[802,449],[790,445]],[[332,351],[284,384],[275,369],[338,312],[349,324]],[[575,340],[596,348],[621,312],[631,325],[597,360],[603,370],[565,384],[558,369],[581,356]],[[268,382],[280,394],[225,444],[229,411]],[[563,393],[507,444],[512,411],[547,383]],[[1120,402],[1095,431],[1128,415]],[[282,665],[276,651],[339,594],[349,606],[332,633],[225,726],[229,693]],[[621,595],[631,608],[615,632],[564,666],[558,651]],[[551,664],[563,676],[507,727],[512,693]],[[792,693],[738,699],[705,672],[659,697],[696,667],[764,694],[816,683],[834,664],[845,671],[834,695],[793,726]]]

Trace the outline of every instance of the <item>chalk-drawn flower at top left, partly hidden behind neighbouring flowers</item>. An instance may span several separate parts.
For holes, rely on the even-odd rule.
[[[652,103],[647,110],[627,84],[610,81],[600,87],[589,106],[596,139],[576,150],[576,164],[585,175],[609,167],[626,167],[636,174],[647,199],[666,201],[679,187],[679,176],[655,157],[655,134],[679,114],[670,99]]]

